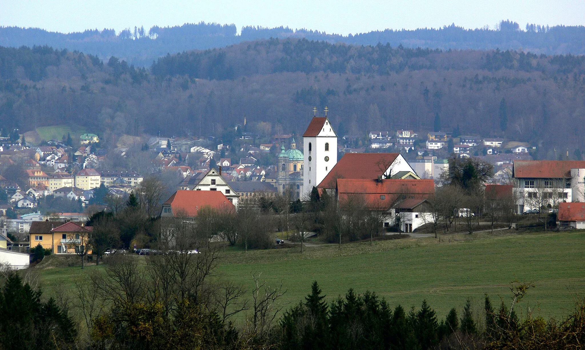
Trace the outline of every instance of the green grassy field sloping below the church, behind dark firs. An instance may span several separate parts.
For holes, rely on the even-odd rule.
[[[504,231],[505,232],[505,231]],[[512,232],[512,231],[510,231]],[[530,306],[543,317],[566,314],[576,294],[585,290],[585,232],[537,232],[488,236],[458,235],[408,238],[342,245],[248,251],[226,248],[219,277],[251,289],[252,273],[262,273],[271,286],[283,283],[286,307],[298,303],[316,280],[329,300],[347,289],[375,291],[391,305],[416,306],[426,299],[440,317],[459,310],[466,298],[483,303],[484,293],[496,303],[510,300],[510,282],[531,282],[522,308]],[[472,239],[470,239],[472,238]],[[90,266],[87,272],[101,266]],[[73,290],[79,267],[39,270],[47,293]]]

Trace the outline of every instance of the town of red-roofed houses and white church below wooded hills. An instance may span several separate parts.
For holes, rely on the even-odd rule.
[[[233,210],[260,208],[277,195],[290,203],[308,201],[316,190],[318,195],[327,192],[339,205],[359,196],[370,211],[384,214],[380,221],[384,229],[413,232],[441,220],[433,217],[429,201],[449,181],[453,172],[449,167],[466,160],[489,164],[491,170],[481,180],[482,193],[512,201],[515,214],[549,210],[558,212],[559,226],[582,225],[567,219],[577,214],[574,210],[567,214],[569,208],[562,203],[585,201],[580,181],[585,162],[562,160],[563,155],[556,161],[532,160],[536,146],[528,143],[411,130],[369,132],[364,138],[338,136],[328,117],[318,117],[316,111],[303,135],[266,138],[242,129],[235,126],[233,139],[221,140],[123,136],[113,149],[94,133],[81,134],[78,142],[68,134],[63,142],[51,139],[34,146],[15,130],[2,138],[0,146],[6,242],[13,241],[16,250],[39,242],[45,246],[49,243],[38,239],[35,222],[82,225],[112,202],[128,200],[148,177],[163,179],[164,195],[170,196],[159,203],[160,217],[185,211],[194,219],[199,208],[219,209],[226,203]],[[116,166],[112,159],[139,164]],[[216,193],[210,197],[205,191]],[[457,210],[470,212],[466,215],[485,211]],[[54,253],[73,252],[64,245],[57,250],[53,239],[50,248]]]

